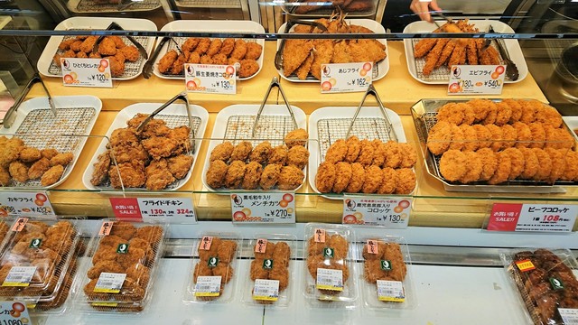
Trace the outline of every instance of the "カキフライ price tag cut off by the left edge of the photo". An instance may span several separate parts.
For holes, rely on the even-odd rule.
[[[45,191],[0,192],[0,218],[23,215],[55,216]]]

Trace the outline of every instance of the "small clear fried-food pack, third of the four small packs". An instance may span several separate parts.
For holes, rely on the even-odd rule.
[[[351,228],[340,225],[305,226],[305,295],[311,301],[354,302]]]

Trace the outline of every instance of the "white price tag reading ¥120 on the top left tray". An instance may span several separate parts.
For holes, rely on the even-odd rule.
[[[64,86],[112,88],[108,59],[61,58]]]

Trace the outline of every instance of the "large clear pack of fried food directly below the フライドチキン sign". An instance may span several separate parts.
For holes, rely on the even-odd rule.
[[[158,223],[104,221],[90,245],[86,273],[80,274],[80,304],[92,311],[143,311],[166,232]]]

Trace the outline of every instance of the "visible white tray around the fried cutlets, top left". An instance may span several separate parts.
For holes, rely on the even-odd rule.
[[[120,24],[125,30],[140,30],[140,31],[154,31],[156,32],[156,25],[145,19],[135,19],[135,18],[103,18],[103,17],[72,17],[59,23],[55,31],[96,31],[96,30],[106,30],[108,25],[112,22]],[[41,57],[38,60],[38,70],[46,77],[61,77],[62,70],[61,67],[54,63],[52,58],[56,54],[61,54],[64,51],[59,50],[58,46],[61,42],[74,38],[76,36],[66,35],[66,36],[52,36],[44,51],[42,51]],[[125,36],[120,36],[126,45],[132,45],[133,43],[128,41]],[[146,52],[150,55],[153,51],[154,37],[145,36],[133,36],[136,42],[143,45]],[[135,62],[126,61],[125,62],[125,72],[119,77],[113,77],[113,80],[130,80],[135,79],[143,71],[144,60],[142,55],[139,55],[138,60]]]

